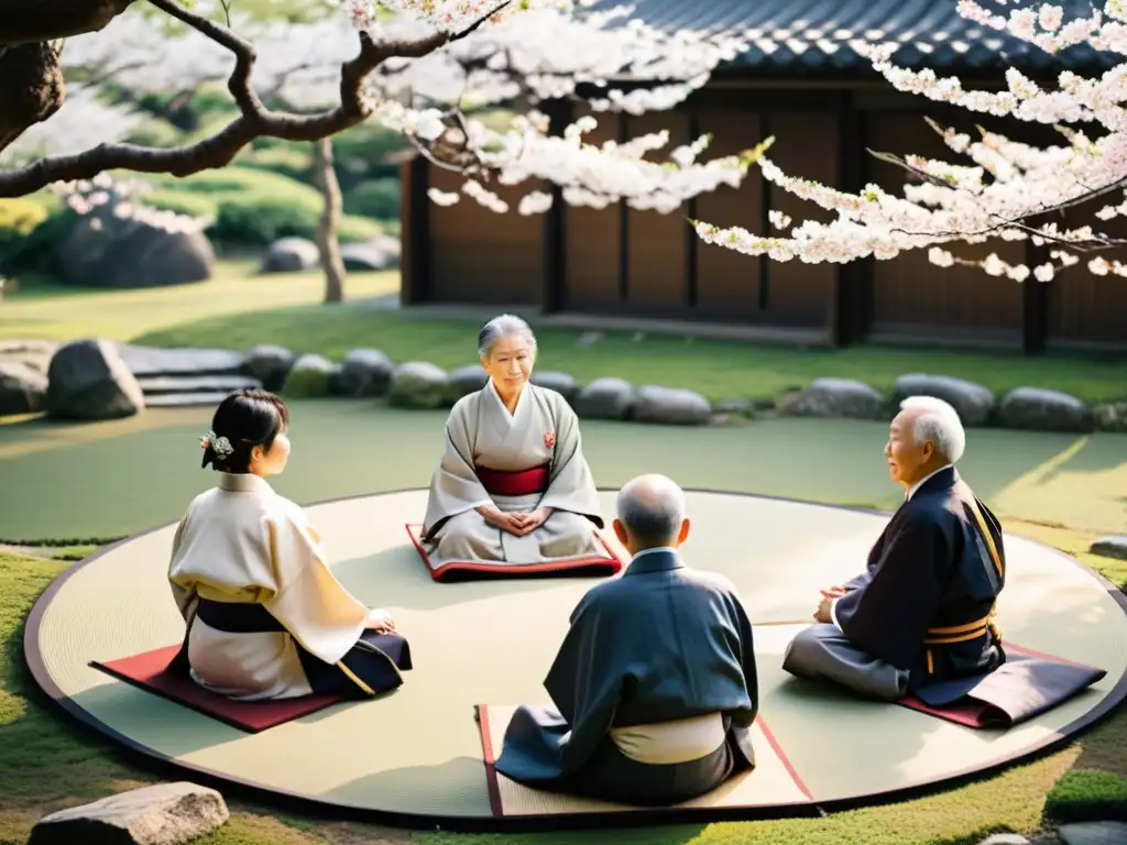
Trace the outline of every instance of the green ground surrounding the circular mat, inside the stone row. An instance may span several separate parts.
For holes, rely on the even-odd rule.
[[[150,412],[131,420],[63,426],[0,426],[0,477],[20,495],[0,508],[0,537],[57,537],[73,544],[99,532],[128,533],[177,518],[213,483],[198,469],[195,437],[210,409]],[[293,403],[293,457],[277,488],[301,501],[417,487],[436,455],[442,412],[396,411],[376,403]],[[896,493],[879,461],[879,422],[766,420],[742,428],[684,433],[588,422],[585,447],[601,486],[645,469],[685,486],[888,506]],[[671,437],[674,438],[671,441]],[[344,460],[347,457],[347,460]],[[835,471],[826,473],[833,465]],[[159,468],[145,474],[144,468]],[[334,472],[325,472],[334,466]],[[139,478],[139,473],[144,478]],[[1118,585],[1127,562],[1086,553],[1099,533],[1121,524],[1127,438],[1042,433],[974,433],[964,474],[1005,514],[1008,531],[1075,554]],[[60,477],[65,484],[55,483]],[[1065,523],[1066,525],[1062,525]],[[39,533],[46,532],[46,533]],[[78,548],[0,549],[0,845],[23,843],[28,827],[62,806],[150,782],[152,775],[113,746],[74,727],[34,691],[23,667],[19,629],[35,597]],[[46,558],[46,559],[45,559]],[[9,740],[10,738],[10,740]],[[1059,784],[1059,786],[1057,785]],[[648,828],[613,834],[522,837],[393,831],[325,824],[232,801],[229,826],[205,845],[973,845],[996,830],[1031,833],[1053,818],[1127,811],[1127,712],[1070,747],[1002,775],[915,801],[820,818]]]

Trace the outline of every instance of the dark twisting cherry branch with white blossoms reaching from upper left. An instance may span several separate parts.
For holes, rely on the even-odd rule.
[[[24,25],[23,37],[59,38],[86,32],[85,37],[94,43],[109,29],[108,20],[125,17],[125,6],[109,6],[110,1],[100,0],[97,14],[92,9],[76,12],[73,25],[43,21],[37,32]],[[657,161],[654,153],[668,144],[667,133],[596,146],[584,141],[597,125],[593,116],[552,132],[548,117],[538,110],[545,99],[578,96],[585,87],[598,92],[588,96],[596,112],[639,114],[668,108],[703,84],[718,63],[745,48],[736,36],[664,33],[631,20],[625,9],[591,9],[592,0],[578,0],[578,5],[570,0],[380,0],[379,8],[367,0],[347,0],[337,7],[336,18],[323,24],[325,32],[336,27],[335,35],[310,44],[317,55],[305,72],[282,74],[281,101],[289,105],[284,109],[267,106],[259,92],[260,80],[278,66],[272,56],[294,54],[284,26],[278,25],[273,35],[251,33],[231,21],[228,5],[207,15],[176,0],[145,2],[195,34],[201,52],[187,61],[202,61],[216,52],[228,55],[233,63],[228,88],[238,116],[188,145],[148,149],[103,143],[35,158],[0,171],[0,196],[26,195],[55,181],[90,179],[107,170],[187,176],[230,163],[258,137],[317,142],[375,118],[402,132],[435,163],[465,174],[462,193],[494,211],[507,211],[507,206],[486,183],[518,185],[543,179],[562,186],[565,199],[573,204],[598,207],[624,201],[637,208],[669,213],[692,196],[720,185],[738,185],[762,149],[699,161],[708,145],[706,136]],[[347,51],[346,43],[352,44]],[[167,53],[160,62],[166,65],[162,72],[175,71],[176,60]],[[134,72],[144,75],[145,71]],[[607,81],[616,79],[646,84],[628,92],[620,90],[624,86]],[[314,106],[312,110],[293,110],[293,92],[299,89]],[[331,99],[319,99],[326,94]],[[473,116],[474,109],[499,103],[517,106],[509,124],[497,127]],[[44,118],[44,109],[28,114],[27,125],[42,121],[50,131],[53,117]],[[438,203],[458,197],[432,195]],[[549,195],[533,192],[517,211],[538,213],[549,205]]]

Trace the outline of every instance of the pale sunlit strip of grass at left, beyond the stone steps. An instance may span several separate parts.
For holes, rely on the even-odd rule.
[[[221,260],[207,282],[131,291],[76,290],[36,279],[0,300],[0,340],[100,337],[130,340],[204,318],[231,318],[261,310],[316,305],[325,295],[318,270],[256,275],[254,258]],[[345,294],[380,296],[399,290],[396,272],[349,273]],[[219,346],[223,346],[222,343]]]

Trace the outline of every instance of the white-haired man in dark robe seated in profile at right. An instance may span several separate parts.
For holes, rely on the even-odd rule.
[[[973,686],[1005,662],[994,621],[1005,586],[1002,526],[955,468],[965,448],[950,404],[904,400],[885,446],[904,504],[867,571],[822,592],[817,624],[790,642],[783,669],[895,701],[932,684]]]

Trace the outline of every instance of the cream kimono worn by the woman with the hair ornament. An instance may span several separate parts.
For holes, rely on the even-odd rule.
[[[192,677],[232,699],[311,694],[299,643],[337,665],[367,623],[369,608],[329,570],[302,508],[257,475],[221,473],[218,488],[196,497],[172,541],[168,579],[189,625]],[[261,604],[286,630],[216,630],[195,619],[201,598]]]

